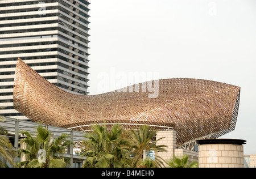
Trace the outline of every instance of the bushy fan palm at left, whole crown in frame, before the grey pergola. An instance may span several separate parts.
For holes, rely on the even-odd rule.
[[[67,147],[73,144],[68,134],[61,134],[53,139],[53,135],[46,127],[38,126],[36,135],[28,131],[21,131],[26,138],[20,140],[19,155],[26,158],[16,164],[16,167],[26,168],[64,168],[69,162],[68,158],[63,157]]]

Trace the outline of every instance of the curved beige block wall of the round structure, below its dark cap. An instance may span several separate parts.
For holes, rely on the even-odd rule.
[[[233,144],[200,145],[199,168],[243,168],[243,146]]]

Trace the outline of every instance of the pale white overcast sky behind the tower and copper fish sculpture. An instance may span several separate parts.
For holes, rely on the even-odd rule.
[[[256,154],[255,0],[91,0],[90,95],[147,81],[198,78],[241,87],[236,130]]]

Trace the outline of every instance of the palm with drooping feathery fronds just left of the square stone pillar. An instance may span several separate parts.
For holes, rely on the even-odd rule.
[[[143,162],[143,151],[147,151],[147,155],[153,154],[154,152],[164,152],[166,149],[164,145],[156,145],[156,142],[161,140],[152,140],[156,136],[156,130],[151,130],[150,126],[140,126],[139,131],[131,129],[128,131],[130,136],[133,138],[133,150],[131,156],[133,157],[133,167],[140,167]],[[163,167],[164,160],[159,156],[155,155],[154,167]]]

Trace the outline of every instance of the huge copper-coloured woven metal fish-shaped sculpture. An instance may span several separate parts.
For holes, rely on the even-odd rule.
[[[108,127],[122,123],[128,129],[138,125],[175,129],[178,146],[195,139],[218,138],[236,126],[240,87],[201,79],[162,79],[158,96],[150,98],[151,92],[143,89],[147,86],[138,86],[137,92],[129,92],[135,89],[131,86],[126,92],[75,95],[49,83],[18,59],[14,109],[31,121],[79,131],[104,122]]]

